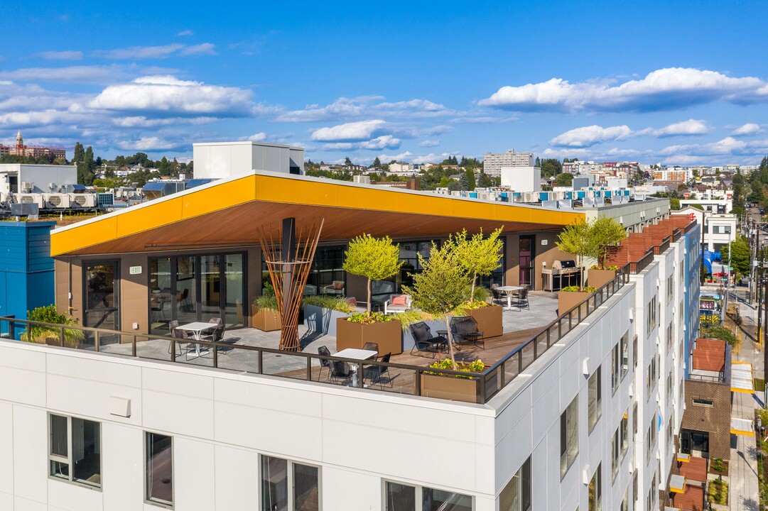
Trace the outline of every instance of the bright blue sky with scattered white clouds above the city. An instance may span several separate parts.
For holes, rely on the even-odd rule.
[[[16,2],[0,141],[756,164],[768,2]]]

